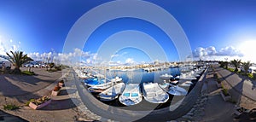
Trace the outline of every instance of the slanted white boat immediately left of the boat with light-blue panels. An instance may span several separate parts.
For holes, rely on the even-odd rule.
[[[123,90],[125,90],[125,83],[114,84],[107,90],[102,91],[102,93],[99,94],[99,97],[102,101],[113,101],[118,98]]]

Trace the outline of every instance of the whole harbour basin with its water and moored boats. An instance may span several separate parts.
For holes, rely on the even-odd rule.
[[[149,72],[148,69],[155,70]],[[90,91],[98,101],[122,109],[144,111],[170,107],[182,101],[194,88],[205,69],[206,66],[188,65],[132,70],[84,68],[75,71],[82,78],[84,89]],[[114,80],[118,78],[119,81],[115,82]],[[125,88],[121,84],[125,84]],[[128,90],[126,90],[127,85],[129,85]],[[137,92],[129,92],[132,89],[137,89]],[[104,96],[102,93],[105,93]],[[107,95],[108,99],[105,99]]]

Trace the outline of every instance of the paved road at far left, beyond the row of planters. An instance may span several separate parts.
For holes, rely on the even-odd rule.
[[[26,70],[26,67],[21,67]],[[22,96],[42,90],[61,77],[61,72],[48,73],[43,68],[32,68],[38,75],[0,75],[0,96]]]

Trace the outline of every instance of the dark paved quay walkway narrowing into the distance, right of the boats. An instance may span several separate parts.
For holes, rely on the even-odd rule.
[[[220,89],[213,78],[212,68],[209,68],[207,78],[202,85],[201,97],[194,107],[177,121],[202,121],[202,122],[230,122],[233,121],[234,104],[224,102],[219,95]]]

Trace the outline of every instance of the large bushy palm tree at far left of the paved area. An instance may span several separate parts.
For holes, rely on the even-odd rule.
[[[28,57],[27,55],[23,55],[22,51],[10,51],[11,55],[9,53],[6,53],[9,56],[9,61],[15,66],[15,69],[13,73],[21,73],[20,67],[22,64],[28,62],[28,61],[33,61],[32,58]]]

